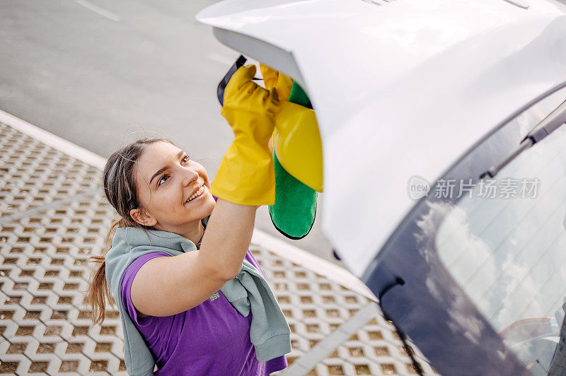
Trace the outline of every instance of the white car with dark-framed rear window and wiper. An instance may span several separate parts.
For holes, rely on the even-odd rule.
[[[323,232],[445,375],[566,374],[566,2],[225,0],[301,84]]]

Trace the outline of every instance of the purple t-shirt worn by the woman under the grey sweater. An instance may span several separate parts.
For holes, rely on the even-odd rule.
[[[255,358],[250,341],[251,314],[243,317],[219,290],[185,312],[166,317],[138,317],[132,304],[132,281],[151,259],[171,257],[150,252],[129,264],[122,276],[122,304],[156,360],[154,375],[270,375],[287,367],[284,356],[265,363]],[[246,260],[261,274],[248,250]]]

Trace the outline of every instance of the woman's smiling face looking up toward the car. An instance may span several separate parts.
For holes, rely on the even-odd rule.
[[[207,170],[185,151],[163,141],[151,143],[136,165],[139,208],[130,214],[138,223],[183,235],[212,213]]]

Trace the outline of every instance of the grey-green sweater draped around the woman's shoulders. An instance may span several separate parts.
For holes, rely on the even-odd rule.
[[[105,256],[106,280],[122,319],[124,331],[124,358],[129,375],[153,375],[155,361],[144,339],[134,326],[122,305],[120,284],[127,266],[142,254],[165,252],[177,256],[197,249],[186,237],[160,230],[118,228],[112,239],[112,248]],[[244,259],[236,278],[220,289],[244,317],[252,315],[250,340],[260,362],[283,356],[291,351],[290,329],[275,295],[250,262]]]

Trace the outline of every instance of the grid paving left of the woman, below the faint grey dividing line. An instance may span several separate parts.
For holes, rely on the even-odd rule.
[[[92,326],[83,301],[110,209],[98,196],[2,225],[0,372],[125,370],[117,311]]]

